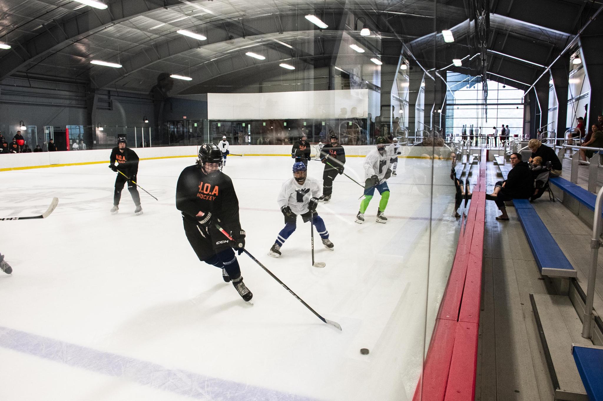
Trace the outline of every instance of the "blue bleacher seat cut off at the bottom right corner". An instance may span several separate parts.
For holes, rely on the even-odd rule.
[[[603,401],[603,347],[573,344],[573,359],[590,401]]]

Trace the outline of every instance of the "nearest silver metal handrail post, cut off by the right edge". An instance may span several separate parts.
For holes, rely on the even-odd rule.
[[[599,247],[601,247],[601,213],[603,213],[603,187],[597,194],[595,201],[595,219],[593,220],[593,237],[590,239],[592,249],[592,262],[589,271],[589,284],[586,289],[586,303],[584,305],[584,319],[582,319],[582,337],[592,338],[593,328],[593,300],[595,298],[595,282],[599,260]]]

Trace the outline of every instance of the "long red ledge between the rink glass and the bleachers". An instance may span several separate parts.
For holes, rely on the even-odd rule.
[[[485,229],[485,151],[413,401],[473,401]],[[463,225],[465,222],[461,222]]]

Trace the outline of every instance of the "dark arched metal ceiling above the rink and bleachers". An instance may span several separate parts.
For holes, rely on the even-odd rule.
[[[219,84],[220,77],[230,79],[233,72],[253,80],[246,69],[271,73],[283,60],[297,63],[298,69],[328,65],[339,51],[337,43],[343,33],[358,39],[373,54],[380,54],[387,42],[402,42],[426,69],[443,69],[452,58],[478,52],[474,0],[438,0],[437,31],[452,28],[456,40],[444,43],[436,38],[435,60],[433,0],[104,2],[109,5],[106,10],[69,0],[0,0],[0,42],[12,46],[0,51],[0,79],[31,74],[81,79],[98,89],[148,92],[158,73],[180,72],[194,78],[190,83],[177,82],[174,92],[182,92],[191,84]],[[491,79],[504,76],[531,84],[544,70],[541,66],[557,57],[598,3],[492,0]],[[304,18],[308,13],[317,14],[329,28],[318,30]],[[371,37],[359,36],[354,26],[358,17],[371,29]],[[176,33],[180,29],[208,39],[200,42],[181,36]],[[267,60],[245,57],[248,50],[264,54]],[[119,60],[124,67],[93,66],[89,63],[92,59]],[[478,59],[467,58],[467,65],[449,69],[479,75]]]

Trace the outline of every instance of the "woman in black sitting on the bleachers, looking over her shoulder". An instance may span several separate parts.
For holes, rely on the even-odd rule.
[[[496,206],[502,213],[496,217],[496,220],[509,220],[505,201],[528,199],[534,192],[534,176],[529,170],[528,163],[522,161],[522,155],[513,153],[509,160],[513,169],[507,175],[507,179],[496,182],[493,193],[486,194],[486,199],[496,202]]]

